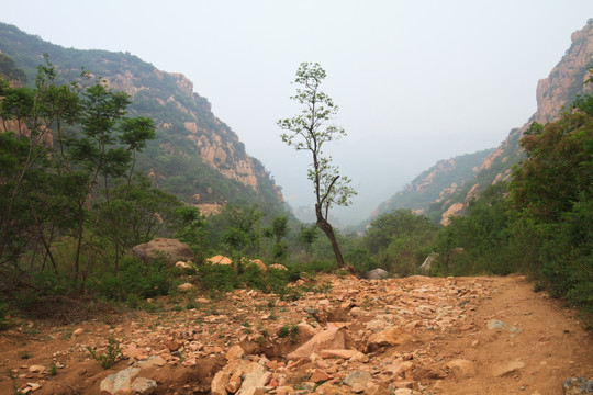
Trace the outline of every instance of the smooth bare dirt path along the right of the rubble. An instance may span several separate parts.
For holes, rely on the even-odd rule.
[[[459,280],[465,283],[468,280]],[[521,276],[481,278],[491,293],[468,324],[433,349],[446,360],[475,364],[475,374],[435,383],[441,394],[561,394],[568,377],[593,379],[592,334],[560,301],[534,293]],[[492,329],[490,329],[492,328]]]

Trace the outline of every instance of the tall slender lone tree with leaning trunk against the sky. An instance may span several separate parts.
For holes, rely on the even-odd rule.
[[[339,169],[332,165],[332,157],[324,155],[322,148],[325,143],[346,136],[342,127],[328,125],[337,113],[337,105],[332,98],[320,90],[325,79],[325,70],[320,64],[302,63],[296,70],[296,94],[291,97],[302,105],[299,115],[278,121],[278,125],[286,131],[282,140],[296,150],[309,150],[313,162],[307,171],[307,178],[313,182],[315,192],[316,225],[322,229],[334,249],[338,268],[346,267],[334,228],[327,221],[329,208],[334,205],[347,206],[350,196],[356,191],[349,185],[350,180],[339,174]]]

